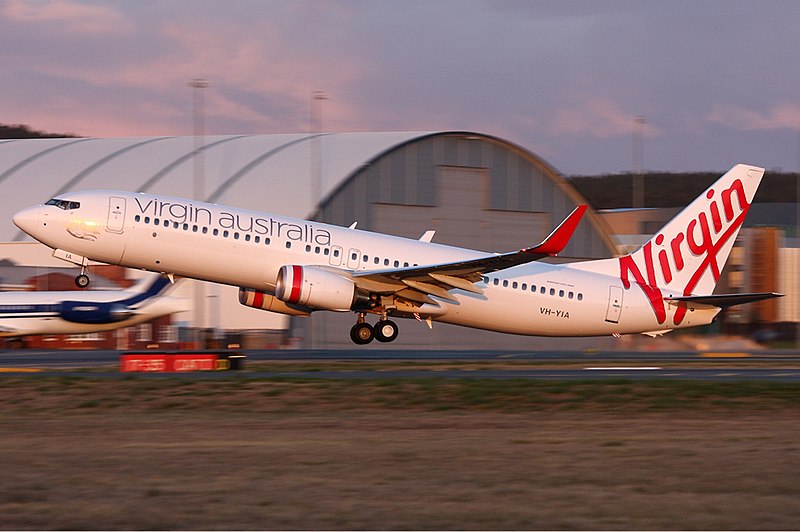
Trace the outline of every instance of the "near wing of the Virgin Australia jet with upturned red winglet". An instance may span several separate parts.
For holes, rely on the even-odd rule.
[[[566,247],[585,212],[586,205],[576,207],[547,238],[533,247],[458,262],[354,273],[353,280],[365,290],[395,293],[418,303],[433,303],[428,295],[453,301],[454,297],[448,290],[454,288],[481,294],[482,290],[474,283],[480,281],[483,274],[560,253]]]

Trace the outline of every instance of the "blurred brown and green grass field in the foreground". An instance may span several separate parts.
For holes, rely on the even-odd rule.
[[[798,529],[800,385],[0,378],[3,529]]]

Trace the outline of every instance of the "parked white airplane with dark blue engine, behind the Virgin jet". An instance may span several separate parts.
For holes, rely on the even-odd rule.
[[[165,295],[169,279],[149,277],[124,290],[0,292],[0,337],[110,331],[188,310]]]

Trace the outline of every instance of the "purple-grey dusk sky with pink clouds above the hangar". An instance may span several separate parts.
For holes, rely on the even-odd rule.
[[[202,78],[208,134],[314,115],[495,135],[565,175],[794,172],[799,22],[794,0],[0,0],[0,123],[191,135]]]

